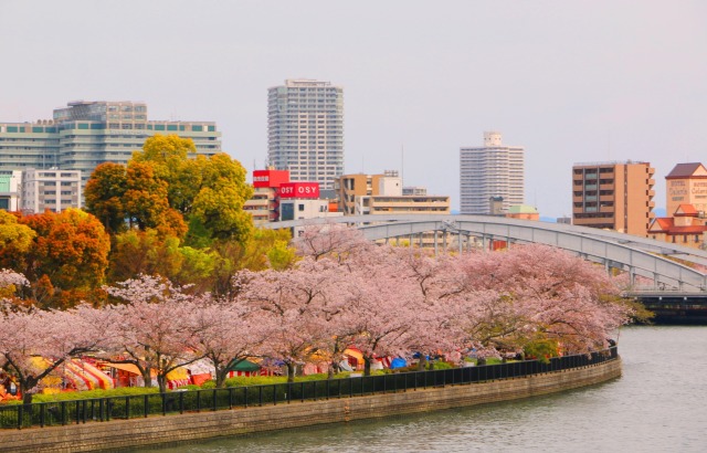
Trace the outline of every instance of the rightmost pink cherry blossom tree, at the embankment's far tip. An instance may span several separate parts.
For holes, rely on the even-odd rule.
[[[544,339],[567,352],[604,347],[631,309],[597,266],[545,245],[458,257],[465,328],[483,347],[521,350]]]

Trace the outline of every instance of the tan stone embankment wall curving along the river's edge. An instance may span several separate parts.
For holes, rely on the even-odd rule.
[[[536,397],[621,376],[621,360],[532,376],[426,390],[277,404],[218,412],[0,431],[8,452],[125,450],[351,420],[391,417]]]

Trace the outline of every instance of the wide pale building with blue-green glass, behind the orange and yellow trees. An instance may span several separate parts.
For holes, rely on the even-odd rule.
[[[215,123],[148,120],[145,103],[80,101],[55,109],[53,119],[0,123],[0,170],[80,170],[85,186],[99,164],[127,164],[157,134],[191,138],[199,154],[221,152]]]

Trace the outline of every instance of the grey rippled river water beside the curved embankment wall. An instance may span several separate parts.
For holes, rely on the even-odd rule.
[[[707,452],[707,327],[623,328],[619,354],[621,378],[559,394],[163,451]]]

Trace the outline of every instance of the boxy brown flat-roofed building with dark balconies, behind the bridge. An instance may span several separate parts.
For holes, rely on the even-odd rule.
[[[572,167],[572,223],[647,236],[655,217],[655,169],[650,162]]]

